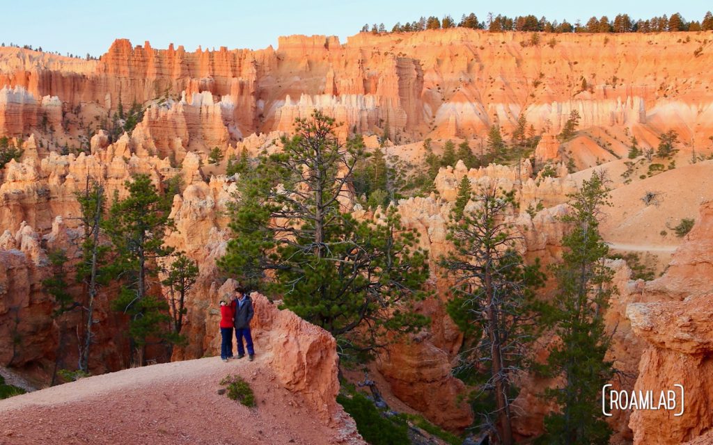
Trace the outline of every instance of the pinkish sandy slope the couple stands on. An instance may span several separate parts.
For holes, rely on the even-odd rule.
[[[0,444],[334,444],[340,422],[319,423],[282,388],[266,356],[165,363],[0,401]],[[250,382],[257,408],[217,394],[228,374]]]

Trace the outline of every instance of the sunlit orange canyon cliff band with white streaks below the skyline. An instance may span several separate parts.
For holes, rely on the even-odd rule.
[[[520,114],[537,132],[556,133],[577,110],[582,127],[625,132],[644,144],[672,128],[702,147],[713,132],[712,36],[543,34],[533,43],[528,33],[452,28],[359,33],[347,43],[289,36],[277,49],[194,52],[117,40],[98,61],[0,48],[0,88],[19,88],[36,101],[57,97],[68,109],[91,103],[105,114],[119,103],[160,107],[161,98],[183,95],[191,103],[196,93],[210,93],[202,106],[220,103],[211,125],[225,128],[210,130],[220,137],[205,146],[225,142],[226,133],[240,139],[290,130],[295,117],[318,108],[344,122],[344,135],[388,126],[392,138],[407,141],[476,137],[491,125],[511,131]],[[18,113],[36,114],[24,106],[0,105],[0,131],[29,132],[16,123]],[[145,126],[157,125],[159,113],[148,113]],[[191,120],[176,120],[167,137],[187,144]]]

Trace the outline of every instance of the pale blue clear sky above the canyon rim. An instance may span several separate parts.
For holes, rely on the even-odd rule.
[[[586,22],[591,16],[626,13],[634,19],[674,12],[684,19],[700,21],[706,2],[662,0],[624,1],[450,1],[450,0],[303,0],[303,1],[213,1],[213,0],[0,0],[0,43],[41,46],[81,56],[101,56],[116,38],[134,45],[150,41],[153,48],[169,43],[187,51],[202,48],[277,48],[278,36],[324,34],[347,36],[364,23],[384,23],[391,29],[397,21],[420,16],[450,14],[456,22],[471,12],[485,20],[488,12],[518,16],[535,14],[549,20]]]

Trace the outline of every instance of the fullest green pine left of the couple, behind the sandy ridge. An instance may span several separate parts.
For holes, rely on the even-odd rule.
[[[125,182],[129,195],[115,194],[103,230],[111,239],[117,258],[113,266],[125,276],[112,308],[129,316],[129,334],[134,362],[143,364],[143,347],[149,338],[170,340],[168,303],[148,293],[149,278],[156,275],[157,258],[173,253],[164,245],[171,200],[158,194],[148,174]],[[119,272],[120,271],[120,272]]]

